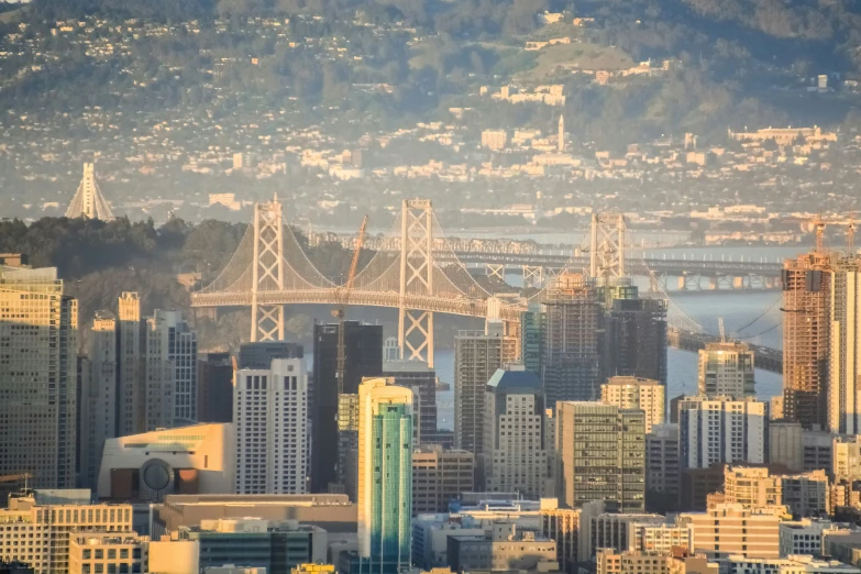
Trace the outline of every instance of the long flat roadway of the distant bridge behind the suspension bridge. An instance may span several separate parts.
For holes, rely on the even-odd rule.
[[[434,252],[433,257],[439,263],[455,263],[460,261],[466,265],[497,264],[497,265],[527,265],[533,267],[562,268],[571,262],[574,267],[588,268],[589,256],[571,256],[566,254],[549,253],[483,253],[483,252]],[[455,261],[456,258],[456,261]],[[739,261],[698,261],[698,260],[640,260],[626,261],[630,273],[637,275],[650,275],[649,271],[659,275],[702,275],[705,277],[727,275],[761,277],[780,277],[783,264],[758,263]]]

